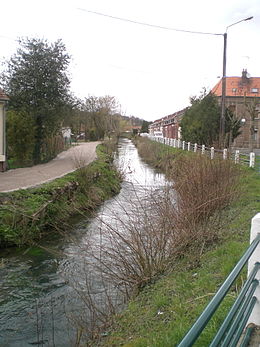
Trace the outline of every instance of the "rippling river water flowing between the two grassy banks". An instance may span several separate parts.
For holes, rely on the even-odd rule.
[[[131,223],[124,215],[133,213],[133,206],[137,213],[138,203],[151,191],[160,194],[167,185],[164,175],[144,163],[128,139],[120,140],[115,163],[124,175],[120,193],[106,201],[94,218],[75,221],[68,230],[73,237],[45,240],[40,248],[1,251],[1,347],[74,346],[75,319],[81,324],[82,317],[91,319],[80,294],[91,291],[95,302],[104,304],[104,283],[88,266],[95,260],[84,250],[100,242],[104,225],[109,228],[120,220],[120,228]],[[86,277],[91,277],[91,288],[86,288]],[[113,300],[120,300],[120,295],[115,293]]]

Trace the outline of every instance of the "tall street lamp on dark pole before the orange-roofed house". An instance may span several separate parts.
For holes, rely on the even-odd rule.
[[[221,98],[221,117],[220,117],[220,144],[224,145],[225,136],[225,109],[226,109],[226,65],[227,65],[227,30],[233,25],[252,19],[253,16],[244,18],[230,24],[226,27],[226,32],[223,34],[224,37],[224,50],[223,50],[223,76],[222,76],[222,98]]]

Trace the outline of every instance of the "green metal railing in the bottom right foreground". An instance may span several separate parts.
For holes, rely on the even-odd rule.
[[[260,234],[257,234],[254,241],[251,243],[249,248],[246,250],[244,255],[241,257],[237,265],[234,267],[230,275],[227,277],[225,282],[219,288],[215,296],[211,299],[208,306],[202,312],[197,321],[193,324],[191,329],[179,343],[178,347],[190,347],[200,336],[203,329],[206,327],[207,323],[219,307],[222,300],[225,298],[227,292],[230,287],[238,277],[244,265],[249,260],[250,256],[256,249],[258,243],[260,241]],[[255,276],[260,269],[260,263],[256,263],[250,275],[247,278],[239,296],[237,297],[235,303],[233,304],[231,310],[229,311],[226,319],[224,320],[222,326],[218,330],[214,339],[212,340],[210,347],[235,347],[239,338],[242,335],[243,329],[248,321],[250,313],[252,312],[256,297],[254,295],[254,291],[256,287],[259,285]],[[246,346],[246,339],[248,339],[249,331],[245,335],[243,340],[244,346]]]

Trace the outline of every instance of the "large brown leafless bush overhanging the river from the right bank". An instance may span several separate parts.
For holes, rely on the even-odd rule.
[[[116,312],[119,293],[122,304],[169,271],[177,258],[199,258],[204,247],[218,239],[220,212],[237,196],[238,178],[239,169],[229,161],[183,158],[172,172],[173,185],[163,191],[147,188],[145,194],[133,189],[116,210],[100,217],[81,253],[85,274],[99,279],[102,294],[93,295],[89,275],[76,284],[90,312],[92,331],[100,336],[100,326]]]

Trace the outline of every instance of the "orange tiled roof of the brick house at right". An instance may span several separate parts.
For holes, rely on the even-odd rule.
[[[222,79],[211,92],[222,95]],[[226,77],[226,96],[260,97],[260,77]]]

